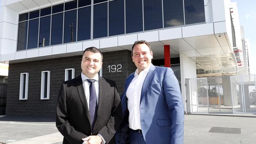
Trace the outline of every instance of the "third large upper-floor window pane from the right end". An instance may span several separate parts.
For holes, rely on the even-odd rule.
[[[144,0],[144,30],[163,28],[162,1]]]

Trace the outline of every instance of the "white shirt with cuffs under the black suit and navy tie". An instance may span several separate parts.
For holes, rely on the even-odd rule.
[[[87,79],[94,79],[95,80],[94,86],[95,86],[95,90],[96,90],[97,104],[98,104],[98,101],[99,101],[99,77],[98,77],[98,74],[96,74],[95,77],[88,78],[82,72],[81,72],[81,77],[82,77],[82,81],[83,81],[83,89],[84,89],[84,92],[85,92],[85,97],[86,97],[87,106],[88,106],[88,110],[89,110],[89,107],[90,107],[89,106],[89,102],[90,102],[90,89],[89,89],[89,86],[90,86],[90,83],[87,81]],[[106,141],[104,140],[102,135],[100,135],[100,133],[98,133],[97,135],[101,137],[101,139],[102,139],[101,143],[105,144]],[[83,144],[86,144],[86,142],[87,141],[84,141]]]

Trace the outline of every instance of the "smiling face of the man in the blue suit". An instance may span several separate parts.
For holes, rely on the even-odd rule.
[[[147,44],[136,44],[132,50],[132,61],[137,67],[139,73],[145,70],[151,64],[153,52],[149,50]]]

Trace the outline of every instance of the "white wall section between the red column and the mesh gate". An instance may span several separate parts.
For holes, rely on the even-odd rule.
[[[196,62],[184,54],[180,54],[180,77],[181,77],[181,94],[183,99],[184,110],[186,110],[185,79],[197,78],[197,71],[196,71]]]

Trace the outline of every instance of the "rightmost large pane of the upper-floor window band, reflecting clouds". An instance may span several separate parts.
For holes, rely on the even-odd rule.
[[[186,24],[205,22],[204,0],[184,0]]]

